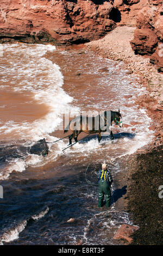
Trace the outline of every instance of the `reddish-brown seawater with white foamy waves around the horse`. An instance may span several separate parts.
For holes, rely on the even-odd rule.
[[[100,69],[107,69],[105,72]],[[131,223],[118,200],[126,184],[117,174],[138,148],[150,143],[152,120],[135,105],[143,94],[123,63],[81,50],[51,45],[5,44],[0,59],[0,243],[10,245],[116,245],[112,237]],[[68,139],[49,144],[49,155],[31,155],[30,145],[42,138],[64,137],[63,114],[121,110],[123,127],[112,125],[98,143],[96,135],[62,153]],[[67,133],[68,134],[68,133]],[[66,134],[66,135],[67,135]],[[114,178],[111,207],[97,208],[97,170],[106,159]],[[68,223],[70,218],[74,222]]]

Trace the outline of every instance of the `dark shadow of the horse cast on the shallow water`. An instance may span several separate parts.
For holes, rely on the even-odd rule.
[[[133,139],[135,137],[135,133],[130,133],[130,132],[118,132],[114,133],[114,138],[115,139],[121,139],[121,138],[129,138]],[[98,135],[90,135],[89,137],[83,138],[79,141],[79,143],[84,144],[86,142],[91,141],[91,139],[96,139],[98,138]],[[110,135],[108,136],[103,136],[101,139],[101,142],[104,142],[105,140],[111,139]],[[112,142],[112,141],[111,141]],[[101,143],[102,144],[102,143]]]

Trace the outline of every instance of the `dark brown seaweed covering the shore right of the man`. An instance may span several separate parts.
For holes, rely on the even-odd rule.
[[[134,224],[140,227],[132,235],[133,245],[162,245],[162,145],[134,155],[128,172],[128,211]]]

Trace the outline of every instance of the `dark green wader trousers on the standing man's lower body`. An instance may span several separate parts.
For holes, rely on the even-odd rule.
[[[101,179],[98,183],[98,207],[103,206],[104,195],[106,200],[106,208],[109,208],[111,200],[110,186],[106,180]]]

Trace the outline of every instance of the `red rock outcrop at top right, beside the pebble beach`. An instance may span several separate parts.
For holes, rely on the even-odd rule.
[[[162,0],[149,0],[139,11],[131,46],[135,54],[151,56],[150,62],[163,72],[163,6]]]

